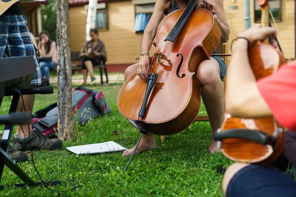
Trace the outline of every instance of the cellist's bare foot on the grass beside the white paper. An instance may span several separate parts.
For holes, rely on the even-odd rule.
[[[144,151],[150,151],[150,150],[154,150],[156,148],[156,143],[154,140],[154,135],[152,134],[146,134],[143,135],[140,144],[136,150],[136,153],[142,153]],[[135,149],[135,146],[131,149],[126,149],[122,156],[127,156],[127,155],[131,155],[133,153]]]

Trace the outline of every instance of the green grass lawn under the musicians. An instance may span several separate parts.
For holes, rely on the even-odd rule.
[[[76,84],[73,85],[75,87]],[[7,188],[0,196],[8,197],[105,197],[105,196],[222,196],[222,175],[216,172],[217,165],[228,166],[231,162],[222,153],[207,152],[211,142],[209,122],[195,122],[185,131],[167,136],[161,143],[156,136],[154,151],[135,155],[128,171],[123,169],[129,157],[122,152],[76,156],[66,149],[68,146],[116,141],[132,148],[140,136],[139,131],[121,116],[116,107],[116,98],[122,83],[88,88],[102,91],[111,106],[112,113],[99,117],[81,127],[75,125],[75,141],[65,141],[61,149],[54,151],[34,150],[34,162],[44,181],[61,180],[61,185],[50,187]],[[56,102],[56,87],[52,95],[37,95],[34,112]],[[7,114],[10,98],[6,97],[0,114]],[[205,115],[204,106],[200,110]],[[14,127],[16,129],[16,127]],[[0,126],[3,130],[3,126]],[[118,135],[113,135],[117,131]],[[13,137],[12,137],[13,138]],[[11,139],[12,139],[11,138]],[[31,152],[28,162],[19,164],[31,178],[40,182],[32,165]],[[8,168],[4,168],[1,185],[22,183]],[[74,186],[80,186],[73,189]]]

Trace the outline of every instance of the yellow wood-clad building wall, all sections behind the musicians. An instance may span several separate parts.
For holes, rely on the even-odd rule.
[[[254,25],[254,0],[250,0],[251,21]],[[245,1],[224,0],[224,11],[230,25],[229,43],[244,31]],[[139,56],[140,42],[143,33],[135,33],[135,6],[131,1],[107,2],[109,30],[99,32],[100,38],[105,42],[108,61],[107,65],[131,65],[137,63],[135,57]],[[228,9],[229,6],[237,5],[238,9]],[[295,20],[294,0],[283,0],[282,22],[278,22],[280,33],[290,58],[295,58]],[[87,10],[84,5],[70,6],[70,41],[71,51],[79,51],[85,43],[85,28]],[[279,37],[278,37],[279,38]],[[282,48],[283,44],[279,40]],[[150,55],[154,51],[151,47]],[[230,51],[231,52],[231,51]]]

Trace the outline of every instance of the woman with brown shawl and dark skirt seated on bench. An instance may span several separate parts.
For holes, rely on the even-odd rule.
[[[101,60],[103,62],[107,61],[105,44],[99,39],[98,30],[90,30],[89,35],[91,40],[85,43],[79,54],[83,68],[83,86],[86,86],[87,71],[89,71],[91,82],[93,82],[96,80],[93,72],[93,65],[101,65]]]

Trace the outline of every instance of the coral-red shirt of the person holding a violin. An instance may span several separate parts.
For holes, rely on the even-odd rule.
[[[296,131],[296,62],[260,79],[257,87],[274,118],[283,127]]]

